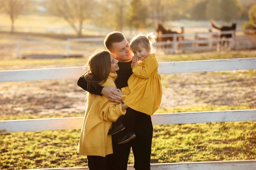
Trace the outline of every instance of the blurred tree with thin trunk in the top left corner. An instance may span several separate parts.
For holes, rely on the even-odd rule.
[[[11,19],[11,33],[14,33],[14,23],[26,10],[29,0],[0,0],[1,11],[9,15]]]

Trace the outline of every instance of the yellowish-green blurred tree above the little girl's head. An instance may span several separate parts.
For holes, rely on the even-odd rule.
[[[145,28],[148,18],[147,8],[143,5],[141,0],[131,0],[128,7],[128,24],[135,28]]]

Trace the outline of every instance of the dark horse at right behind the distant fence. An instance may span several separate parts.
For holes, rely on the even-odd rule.
[[[212,25],[213,28],[218,29],[221,32],[222,31],[236,31],[236,23],[232,23],[231,26],[217,27],[212,19],[210,20],[210,22],[211,22],[211,25]],[[221,34],[220,38],[221,39],[222,38],[232,38],[232,34]],[[220,48],[221,48],[221,46],[224,46],[226,42],[227,42],[227,47],[229,47],[229,41],[221,41],[220,42]]]

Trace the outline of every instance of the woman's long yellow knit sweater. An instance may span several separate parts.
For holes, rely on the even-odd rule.
[[[103,87],[116,88],[116,72],[111,72]],[[78,153],[90,156],[106,156],[113,153],[112,138],[108,130],[119,116],[124,115],[122,104],[111,102],[105,96],[88,94],[87,108],[81,129]]]

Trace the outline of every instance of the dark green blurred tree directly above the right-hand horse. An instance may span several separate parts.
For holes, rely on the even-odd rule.
[[[239,0],[221,0],[221,20],[226,22],[237,20],[241,16],[242,8]]]

